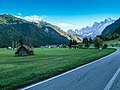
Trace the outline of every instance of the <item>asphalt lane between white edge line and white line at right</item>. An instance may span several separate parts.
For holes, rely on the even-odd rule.
[[[26,90],[104,90],[119,67],[120,48],[113,54],[101,58],[94,63],[39,83]],[[114,87],[112,86],[113,89]],[[120,90],[120,86],[118,89]]]

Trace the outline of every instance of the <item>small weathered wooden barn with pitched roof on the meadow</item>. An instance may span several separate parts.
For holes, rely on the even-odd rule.
[[[28,45],[21,45],[17,48],[17,51],[15,52],[15,56],[29,56],[34,55],[32,48],[30,48]]]

